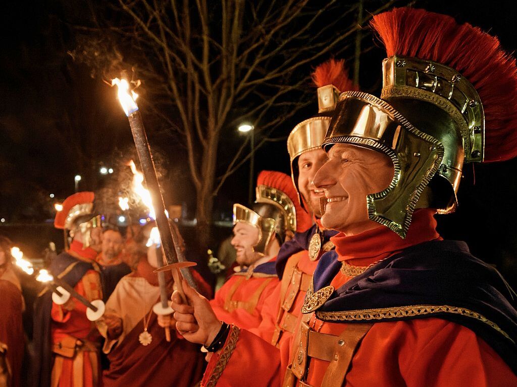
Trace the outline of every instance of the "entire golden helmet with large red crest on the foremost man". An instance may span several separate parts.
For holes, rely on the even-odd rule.
[[[382,99],[343,93],[323,148],[352,143],[391,158],[393,180],[368,196],[368,213],[405,237],[424,190],[418,206],[452,212],[463,163],[517,155],[517,70],[496,38],[446,15],[397,8],[372,26],[389,55]]]

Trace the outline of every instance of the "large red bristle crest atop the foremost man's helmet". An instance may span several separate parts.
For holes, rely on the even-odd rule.
[[[517,156],[517,67],[496,37],[450,16],[412,8],[377,14],[371,26],[388,56],[433,60],[469,80],[484,108],[486,162]]]

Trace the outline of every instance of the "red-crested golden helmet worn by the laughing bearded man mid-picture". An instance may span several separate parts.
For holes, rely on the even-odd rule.
[[[252,209],[234,204],[234,224],[246,222],[258,229],[258,241],[253,247],[255,252],[265,255],[271,238],[277,236],[282,244],[296,231],[308,228],[309,215],[296,204],[296,195],[291,176],[277,171],[262,171],[258,174],[256,202]]]

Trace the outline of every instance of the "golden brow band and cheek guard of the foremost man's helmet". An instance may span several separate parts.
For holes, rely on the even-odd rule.
[[[404,238],[422,191],[442,163],[443,144],[387,102],[359,91],[340,96],[322,147],[328,151],[336,143],[372,149],[391,159],[393,180],[367,196],[368,216]]]

